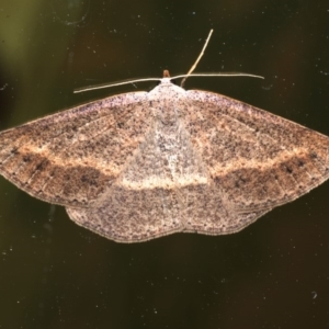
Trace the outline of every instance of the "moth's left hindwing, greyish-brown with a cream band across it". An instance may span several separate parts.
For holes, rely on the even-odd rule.
[[[180,200],[154,127],[127,159],[97,207],[67,207],[77,224],[120,242],[145,241],[182,230]],[[162,134],[161,134],[162,135]],[[166,136],[164,136],[166,138]]]

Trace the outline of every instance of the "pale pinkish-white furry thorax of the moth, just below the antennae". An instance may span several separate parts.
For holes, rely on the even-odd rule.
[[[173,84],[169,78],[148,93],[149,104],[155,117],[164,125],[178,124],[183,115],[186,95],[185,90]]]

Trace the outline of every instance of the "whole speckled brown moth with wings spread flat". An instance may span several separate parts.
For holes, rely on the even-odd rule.
[[[0,133],[0,173],[120,242],[232,234],[329,177],[329,137],[168,71]]]

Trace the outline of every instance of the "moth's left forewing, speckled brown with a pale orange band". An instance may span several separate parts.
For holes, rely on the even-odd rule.
[[[0,173],[29,194],[93,206],[149,128],[146,92],[110,97],[0,133]]]

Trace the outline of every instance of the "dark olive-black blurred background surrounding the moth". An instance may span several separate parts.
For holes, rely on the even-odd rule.
[[[0,0],[0,128],[186,72],[329,135],[329,7],[314,0]],[[241,232],[121,245],[0,179],[0,328],[329,328],[329,183]]]

